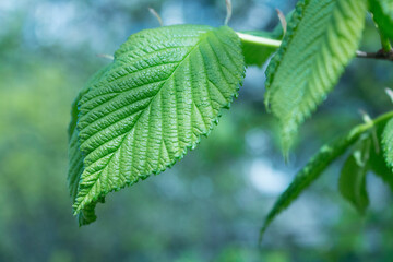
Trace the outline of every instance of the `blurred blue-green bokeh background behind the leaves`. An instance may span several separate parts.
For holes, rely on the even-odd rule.
[[[235,29],[272,29],[293,0],[233,0]],[[301,128],[285,164],[275,120],[263,105],[264,72],[249,68],[239,98],[209,139],[159,176],[107,196],[80,228],[67,189],[70,106],[127,37],[159,26],[218,26],[224,0],[0,1],[0,261],[389,261],[392,193],[368,176],[360,216],[337,192],[336,162],[267,230],[277,195],[335,135],[392,109],[393,64],[355,59]],[[362,50],[379,49],[369,21]]]

